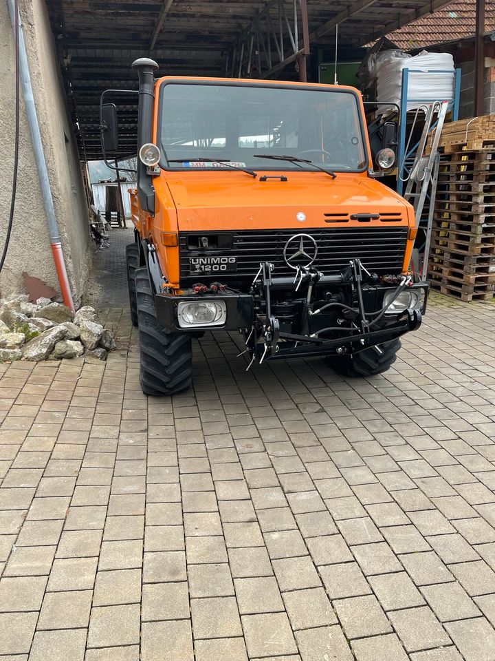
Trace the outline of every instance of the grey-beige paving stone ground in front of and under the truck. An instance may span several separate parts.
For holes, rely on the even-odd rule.
[[[208,335],[157,399],[103,305],[106,364],[0,366],[0,660],[495,660],[494,306],[364,380]]]

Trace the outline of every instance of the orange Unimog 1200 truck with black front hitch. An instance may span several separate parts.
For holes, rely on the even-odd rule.
[[[375,180],[353,87],[139,75],[134,242],[127,246],[141,384],[192,382],[192,342],[239,330],[248,368],[325,358],[341,374],[387,370],[418,328],[427,286],[410,273],[414,213]],[[105,93],[107,94],[107,93]],[[104,152],[115,105],[102,103]],[[395,154],[382,149],[380,168]]]

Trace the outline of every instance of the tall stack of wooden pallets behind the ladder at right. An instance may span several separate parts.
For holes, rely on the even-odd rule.
[[[463,301],[495,293],[495,115],[445,124],[428,275]]]

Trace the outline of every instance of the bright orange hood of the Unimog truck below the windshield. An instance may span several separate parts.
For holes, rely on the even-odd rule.
[[[287,176],[261,181],[260,177]],[[163,175],[162,175],[163,176]],[[163,181],[163,180],[162,180]],[[162,183],[162,182],[160,182]],[[166,184],[177,209],[179,231],[242,229],[299,229],[344,223],[409,224],[412,207],[397,193],[366,174],[338,173],[336,179],[320,172],[169,173]],[[300,215],[302,212],[305,219]],[[380,219],[349,218],[353,214],[380,214]]]

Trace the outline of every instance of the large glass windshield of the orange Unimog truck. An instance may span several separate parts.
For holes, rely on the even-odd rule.
[[[256,156],[272,154],[335,171],[366,168],[358,97],[349,90],[245,83],[168,83],[160,89],[162,167],[179,160],[170,169],[234,171],[219,162],[224,160],[263,170],[313,169]]]

